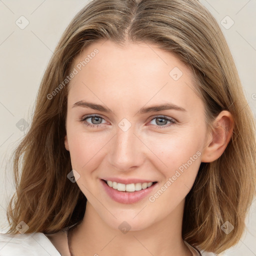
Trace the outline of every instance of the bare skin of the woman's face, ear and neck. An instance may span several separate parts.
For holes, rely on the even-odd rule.
[[[213,161],[224,151],[231,136],[232,116],[222,111],[215,129],[206,132],[204,105],[193,89],[193,74],[172,53],[152,44],[129,42],[120,46],[101,40],[76,56],[73,67],[95,48],[99,52],[68,85],[64,143],[72,168],[80,175],[76,176],[77,185],[87,198],[83,221],[70,234],[72,253],[192,255],[181,238],[185,196],[200,162]],[[169,75],[174,67],[183,73],[178,80]],[[101,104],[112,113],[72,107],[80,100]],[[138,113],[141,107],[162,103],[185,111]],[[95,126],[86,126],[86,121],[80,120],[88,114],[103,119],[87,118]],[[155,117],[162,115],[176,123],[163,119],[161,124]],[[123,118],[131,123],[126,131],[118,126]],[[132,204],[116,202],[100,183],[104,176],[151,179],[157,181],[153,195],[198,151],[197,159],[154,202],[148,196]],[[123,221],[130,226],[127,233],[118,229]]]

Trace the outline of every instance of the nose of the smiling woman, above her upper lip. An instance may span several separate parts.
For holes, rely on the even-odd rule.
[[[108,160],[117,171],[139,167],[145,159],[146,146],[135,134],[133,126],[126,131],[118,127],[110,146]]]

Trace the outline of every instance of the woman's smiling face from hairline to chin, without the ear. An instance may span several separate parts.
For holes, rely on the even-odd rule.
[[[65,147],[91,209],[112,228],[140,230],[183,205],[206,143],[204,106],[172,53],[102,42],[74,59]]]

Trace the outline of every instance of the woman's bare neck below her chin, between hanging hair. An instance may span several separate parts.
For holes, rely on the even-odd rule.
[[[83,220],[70,230],[72,256],[162,255],[191,256],[181,237],[184,201],[164,219],[143,230],[121,232],[109,227],[87,202]]]

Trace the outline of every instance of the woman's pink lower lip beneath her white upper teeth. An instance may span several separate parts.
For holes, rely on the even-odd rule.
[[[154,188],[154,186],[156,185],[156,183],[152,184],[150,187],[147,187],[145,189],[141,189],[139,191],[134,191],[134,192],[127,192],[127,191],[119,191],[117,189],[114,189],[110,186],[108,186],[105,181],[103,181],[102,179],[100,179],[100,182],[102,183],[106,193],[116,202],[120,202],[120,203],[134,203],[137,202],[139,200],[141,200],[142,198],[144,198],[145,196],[147,196],[152,189]]]

